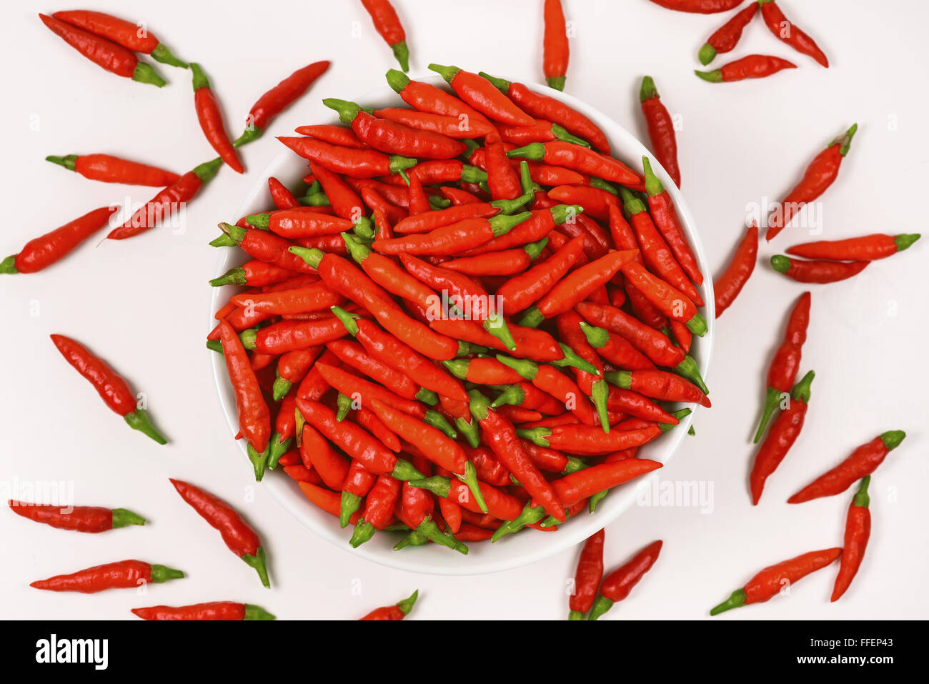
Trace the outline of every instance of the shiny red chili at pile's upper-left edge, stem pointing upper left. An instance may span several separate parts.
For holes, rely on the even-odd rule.
[[[417,130],[387,119],[378,119],[363,111],[354,102],[345,99],[322,100],[327,107],[338,112],[343,124],[351,125],[358,138],[375,150],[387,154],[402,154],[425,159],[451,159],[467,149],[460,140],[438,133]]]

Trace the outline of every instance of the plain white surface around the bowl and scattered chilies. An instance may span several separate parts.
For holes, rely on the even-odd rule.
[[[395,4],[413,75],[438,61],[542,80],[541,0]],[[728,15],[679,14],[646,0],[564,5],[576,30],[571,94],[644,139],[638,87],[648,73],[681,117],[682,186],[715,270],[741,235],[746,207],[789,190],[813,155],[856,121],[852,151],[821,204],[825,237],[922,230],[929,159],[929,55],[922,34],[929,12],[923,3],[852,7],[844,0],[784,0],[784,11],[815,36],[831,68],[779,43],[756,18],[737,50],[712,66],[757,52],[800,68],[726,85],[704,83],[692,70],[700,67],[700,45]],[[0,616],[124,618],[138,605],[237,599],[281,618],[345,619],[416,587],[417,618],[567,615],[565,586],[576,550],[473,577],[392,571],[355,558],[315,537],[250,484],[250,466],[220,412],[212,352],[203,348],[211,295],[206,281],[216,275],[217,259],[206,243],[218,221],[238,218],[234,212],[253,177],[278,154],[272,134],[328,116],[321,98],[370,91],[395,66],[360,4],[97,0],[90,8],[145,20],[177,56],[202,62],[235,135],[255,98],[284,75],[318,59],[332,59],[333,66],[265,138],[243,151],[249,173],[220,170],[190,205],[184,234],[151,230],[123,243],[91,239],[45,272],[0,276],[0,482],[64,480],[73,484],[78,504],[124,506],[150,520],[144,528],[87,535],[0,510]],[[170,81],[161,90],[103,72],[49,33],[35,16],[40,10],[49,8],[19,3],[0,23],[3,254],[95,206],[138,203],[154,192],[86,180],[46,163],[47,154],[110,152],[178,173],[215,156],[196,123],[189,72],[158,65]],[[926,241],[872,264],[854,280],[813,286],[803,369],[815,368],[817,379],[806,428],[768,480],[761,505],[750,505],[749,438],[767,363],[786,312],[804,289],[770,270],[767,257],[805,239],[803,229],[786,230],[775,248],[762,247],[751,282],[717,330],[708,377],[713,409],[700,412],[698,436],[685,441],[661,473],[712,485],[712,512],[634,506],[608,526],[608,567],[653,539],[664,540],[656,567],[608,618],[700,618],[765,565],[841,546],[850,493],[801,506],[784,501],[858,444],[895,428],[909,437],[873,478],[870,546],[844,599],[829,602],[834,566],[794,587],[790,597],[717,619],[917,618],[929,608]],[[152,420],[170,444],[160,447],[127,428],[61,359],[51,333],[85,342],[146,392]],[[203,484],[243,511],[268,550],[271,591],[179,500],[168,477]],[[182,568],[189,579],[153,585],[145,597],[129,590],[59,595],[28,586],[124,558]]]

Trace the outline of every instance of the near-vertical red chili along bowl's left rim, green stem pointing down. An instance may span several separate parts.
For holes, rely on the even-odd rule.
[[[268,404],[261,394],[255,372],[248,362],[248,356],[228,322],[219,322],[219,339],[223,345],[223,358],[229,371],[229,381],[235,393],[236,409],[239,413],[239,428],[242,437],[248,441],[255,452],[249,458],[255,464],[255,479],[261,480],[264,463],[261,454],[265,454],[271,434],[271,415]]]

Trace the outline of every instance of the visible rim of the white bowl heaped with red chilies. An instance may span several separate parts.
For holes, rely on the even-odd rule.
[[[435,85],[445,85],[438,76],[425,77],[427,82]],[[544,93],[555,99],[566,102],[578,112],[582,112],[591,119],[596,125],[607,134],[610,147],[613,154],[619,159],[638,168],[641,164],[642,156],[648,154],[652,159],[652,168],[656,175],[661,178],[661,182],[677,205],[678,215],[684,224],[684,230],[687,233],[687,239],[693,247],[697,260],[700,263],[700,270],[707,274],[703,284],[700,286],[700,296],[706,302],[706,307],[702,313],[706,318],[709,331],[703,337],[694,336],[691,355],[697,360],[700,366],[700,373],[705,378],[710,362],[710,354],[713,350],[713,330],[715,322],[715,310],[713,306],[713,280],[709,276],[710,269],[706,261],[706,254],[703,251],[703,244],[700,242],[700,235],[694,228],[693,217],[687,208],[680,191],[677,190],[674,182],[668,176],[667,172],[661,167],[654,156],[639,142],[633,134],[616,124],[606,115],[596,111],[590,105],[572,98],[562,92],[558,92],[544,85],[529,84],[533,90]],[[402,106],[402,100],[389,87],[379,88],[365,96],[356,99],[360,104],[370,107],[396,107]],[[332,117],[329,121],[319,123],[337,124],[337,118]],[[247,196],[244,203],[239,207],[236,217],[245,216],[246,214],[255,214],[265,211],[270,206],[268,196],[268,178],[273,176],[281,180],[285,185],[297,183],[307,173],[307,163],[305,160],[294,154],[293,151],[283,149],[268,167],[261,174],[260,178],[255,180],[254,190]],[[223,249],[216,274],[221,274],[234,266],[240,266],[247,260],[241,250]],[[213,303],[210,309],[210,328],[216,324],[213,320],[213,312],[221,306],[221,303],[229,301],[232,295],[232,286],[217,287],[213,293]],[[229,386],[229,378],[226,374],[226,365],[222,356],[213,355],[213,370],[216,375],[216,389],[219,392],[219,401],[222,402],[223,410],[226,413],[226,419],[229,422],[229,429],[235,435],[239,431],[238,417],[236,414],[235,400],[232,396],[232,389]],[[681,440],[685,439],[687,429],[693,420],[694,414],[698,407],[691,406],[694,413],[691,413],[680,425],[676,426],[666,434],[662,435],[657,441],[643,447],[642,455],[662,464],[668,464],[671,461],[674,451]],[[242,451],[242,459],[247,463],[245,456],[245,442],[239,441],[239,448]],[[518,534],[507,535],[499,542],[491,544],[490,542],[480,542],[469,545],[470,551],[467,556],[452,551],[444,546],[428,544],[425,546],[413,546],[401,551],[394,551],[391,547],[396,544],[402,534],[400,533],[377,533],[373,539],[357,549],[348,546],[348,539],[351,536],[352,528],[347,527],[345,530],[339,528],[337,520],[328,513],[321,511],[311,504],[301,493],[296,482],[290,480],[282,472],[268,472],[265,475],[262,484],[274,496],[278,502],[286,508],[297,520],[303,522],[310,530],[319,534],[323,539],[332,542],[339,548],[345,549],[348,553],[360,556],[361,558],[373,560],[383,565],[406,570],[410,572],[425,572],[429,574],[441,575],[465,575],[481,574],[484,572],[499,572],[510,570],[521,565],[528,565],[537,560],[552,556],[569,546],[579,544],[591,534],[608,523],[616,520],[623,511],[632,506],[636,497],[636,486],[648,486],[650,479],[657,477],[663,471],[649,473],[647,477],[640,478],[633,482],[615,488],[609,495],[604,498],[597,507],[593,515],[584,512],[577,518],[569,520],[562,529],[557,532],[543,533],[536,530],[525,530]],[[250,472],[247,468],[242,468],[242,475]]]

